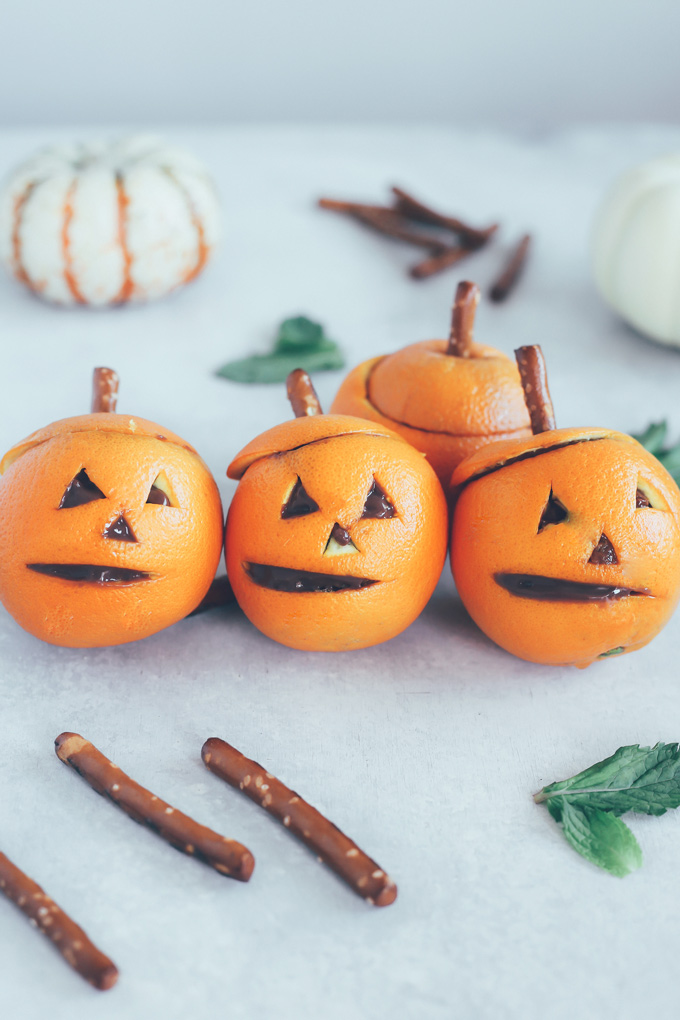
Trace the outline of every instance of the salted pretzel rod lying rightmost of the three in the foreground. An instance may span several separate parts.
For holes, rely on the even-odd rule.
[[[205,742],[201,756],[211,772],[242,789],[278,819],[364,900],[376,907],[387,907],[395,902],[397,885],[382,868],[258,762],[246,758],[218,736]]]

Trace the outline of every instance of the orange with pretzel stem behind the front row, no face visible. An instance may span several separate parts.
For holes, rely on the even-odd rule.
[[[476,284],[459,284],[451,336],[411,344],[353,369],[330,407],[399,432],[448,488],[455,467],[491,440],[531,434],[515,364],[475,344]]]

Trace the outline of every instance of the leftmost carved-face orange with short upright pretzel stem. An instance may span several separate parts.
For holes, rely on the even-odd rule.
[[[53,645],[120,645],[200,603],[222,544],[215,481],[196,451],[112,413],[95,370],[92,414],[34,432],[0,463],[0,599]]]

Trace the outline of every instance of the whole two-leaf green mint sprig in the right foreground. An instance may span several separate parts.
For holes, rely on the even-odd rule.
[[[534,801],[545,805],[574,850],[622,877],[640,867],[642,853],[619,815],[663,815],[680,806],[680,748],[619,748],[571,779],[543,786]]]

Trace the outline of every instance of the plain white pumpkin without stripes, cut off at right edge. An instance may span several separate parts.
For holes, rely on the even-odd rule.
[[[680,155],[629,170],[608,194],[593,231],[595,280],[636,329],[680,346]]]

